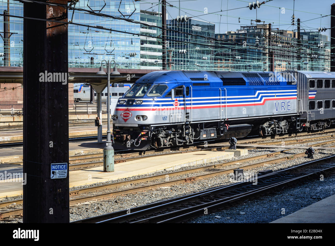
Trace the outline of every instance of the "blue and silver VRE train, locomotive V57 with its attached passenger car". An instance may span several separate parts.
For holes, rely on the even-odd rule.
[[[335,78],[335,73],[152,72],[118,100],[113,144],[116,149],[145,150],[255,133],[265,137],[304,128],[321,130],[335,118],[326,99],[334,98],[335,88],[328,92],[326,88],[332,88],[317,88],[318,80],[328,86],[327,76]],[[307,88],[313,80],[317,89]],[[332,87],[333,80],[329,80]],[[314,95],[318,97],[312,110]]]

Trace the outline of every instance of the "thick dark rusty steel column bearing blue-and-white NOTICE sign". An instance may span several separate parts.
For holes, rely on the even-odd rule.
[[[23,15],[44,19],[23,20],[23,222],[69,223],[68,24],[52,21],[67,10],[25,2]]]

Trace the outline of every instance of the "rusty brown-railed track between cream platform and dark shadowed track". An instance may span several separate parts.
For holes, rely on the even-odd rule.
[[[309,145],[309,146],[316,146],[316,145],[326,144],[326,143],[333,142],[333,141],[335,141],[335,139],[327,140],[327,141],[324,141],[324,142],[321,142],[321,143],[315,143],[315,144]],[[145,184],[145,185],[137,186],[137,187],[134,186],[134,187],[131,187],[131,188],[128,188],[128,189],[116,190],[116,191],[111,191],[111,192],[104,192],[104,193],[94,194],[94,195],[89,195],[89,196],[70,198],[70,205],[83,203],[83,202],[88,202],[88,201],[93,201],[93,200],[98,200],[98,199],[111,198],[111,197],[116,197],[116,196],[120,196],[120,195],[126,195],[126,194],[135,193],[135,192],[146,191],[146,190],[150,190],[150,189],[156,189],[156,188],[159,188],[159,187],[171,186],[171,185],[178,184],[178,183],[191,182],[191,181],[194,181],[194,180],[208,178],[208,177],[212,177],[212,176],[216,176],[216,175],[222,175],[222,174],[225,174],[225,173],[232,173],[233,169],[236,169],[237,167],[231,167],[231,168],[223,169],[223,170],[219,170],[219,171],[209,171],[208,173],[195,175],[195,176],[192,176],[192,177],[189,177],[189,178],[170,179],[173,176],[179,176],[179,175],[184,175],[184,174],[189,174],[189,173],[196,173],[196,172],[199,172],[199,171],[209,170],[209,169],[216,169],[216,168],[219,168],[219,167],[222,167],[222,166],[229,166],[229,165],[233,165],[233,164],[236,164],[236,163],[243,163],[243,162],[252,161],[252,160],[260,159],[260,158],[268,158],[268,157],[272,157],[272,156],[280,154],[280,153],[285,153],[285,152],[290,151],[292,149],[294,149],[294,148],[275,151],[275,152],[262,154],[262,155],[256,155],[256,156],[247,157],[247,158],[238,159],[238,160],[233,160],[233,161],[222,162],[220,164],[215,164],[215,165],[207,165],[207,166],[191,168],[191,169],[182,170],[182,171],[175,171],[175,172],[153,175],[153,176],[148,176],[148,177],[143,177],[143,178],[137,178],[137,179],[131,179],[131,180],[126,180],[126,181],[121,181],[121,182],[115,182],[115,183],[111,183],[111,184],[104,184],[104,185],[99,185],[99,186],[94,186],[94,187],[89,187],[89,188],[82,188],[82,189],[78,189],[78,190],[72,190],[72,191],[69,192],[69,195],[70,196],[78,196],[80,194],[87,194],[87,193],[90,193],[90,192],[97,192],[97,191],[102,191],[102,190],[114,189],[114,188],[118,188],[118,187],[127,186],[129,184],[133,185],[133,184],[144,183],[144,182],[148,182],[148,181],[152,181],[152,180],[159,180],[159,179],[162,179],[162,178],[165,179],[166,177],[169,177],[168,181],[156,182],[156,183],[152,183],[152,184]],[[296,153],[296,154],[293,154],[293,155],[281,156],[281,157],[278,157],[278,158],[275,158],[275,159],[266,159],[264,161],[251,163],[251,164],[247,164],[247,165],[243,165],[243,166],[240,165],[239,168],[243,168],[243,169],[247,170],[247,169],[250,169],[250,168],[263,166],[263,165],[268,164],[268,163],[276,163],[276,162],[284,161],[284,160],[291,159],[291,158],[301,157],[301,156],[304,156],[304,155],[305,155],[305,151],[300,152],[300,153]],[[0,208],[7,207],[12,203],[22,204],[23,200],[18,199],[18,200],[12,200],[12,201],[7,201],[7,202],[0,203]],[[0,218],[6,218],[8,216],[13,216],[13,215],[19,215],[21,213],[22,213],[22,209],[8,210],[8,211],[5,211],[5,212],[1,212],[0,213]]]

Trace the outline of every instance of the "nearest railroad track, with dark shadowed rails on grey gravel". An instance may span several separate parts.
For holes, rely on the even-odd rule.
[[[273,189],[302,181],[320,178],[335,170],[335,155],[290,167],[270,174],[253,177],[242,182],[189,194],[186,196],[156,202],[130,210],[122,210],[72,223],[176,223],[231,206],[243,199],[252,198]],[[317,170],[316,170],[317,169]]]

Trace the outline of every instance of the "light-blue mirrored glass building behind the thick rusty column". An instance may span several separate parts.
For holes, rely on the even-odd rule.
[[[106,5],[105,5],[106,3]],[[88,5],[88,6],[87,6]],[[140,20],[140,4],[133,0],[80,0],[76,7],[95,12]],[[1,0],[0,12],[7,10]],[[9,14],[23,16],[23,4],[10,0]],[[3,17],[0,32],[3,34]],[[95,16],[84,11],[68,11],[69,67],[98,67],[103,59],[115,60],[119,68],[140,68],[140,24]],[[75,23],[112,29],[113,31],[78,26]],[[23,19],[10,17],[10,66],[23,65]],[[126,32],[126,33],[125,33]],[[38,37],[37,37],[38,38]],[[0,53],[4,52],[3,41]],[[136,53],[136,55],[134,54]],[[4,61],[0,57],[0,66]]]

